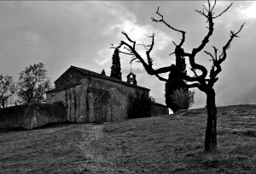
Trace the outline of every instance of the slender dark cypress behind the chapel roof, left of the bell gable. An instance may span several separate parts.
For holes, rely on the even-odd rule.
[[[110,77],[122,80],[119,50],[117,48],[114,49],[113,57],[112,57],[112,66],[110,68],[111,68]]]

